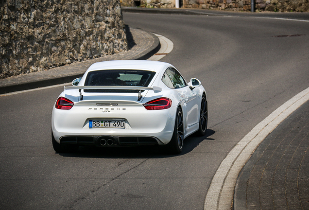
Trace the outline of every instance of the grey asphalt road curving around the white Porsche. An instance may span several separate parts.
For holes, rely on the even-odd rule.
[[[0,209],[201,210],[213,175],[257,123],[309,87],[309,22],[123,13],[171,39],[172,63],[207,91],[205,138],[179,156],[157,147],[56,154],[51,110],[62,87],[0,97]],[[295,36],[287,36],[295,35]]]

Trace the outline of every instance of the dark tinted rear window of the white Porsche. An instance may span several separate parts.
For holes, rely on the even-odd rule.
[[[85,86],[139,86],[148,87],[155,72],[148,70],[90,71]],[[124,92],[124,90],[86,90],[86,92]],[[129,90],[130,91],[130,90]]]

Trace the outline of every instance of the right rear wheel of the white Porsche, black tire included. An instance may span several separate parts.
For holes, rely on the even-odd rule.
[[[177,108],[175,127],[171,141],[167,144],[169,152],[172,154],[180,154],[184,144],[184,119],[181,108]]]

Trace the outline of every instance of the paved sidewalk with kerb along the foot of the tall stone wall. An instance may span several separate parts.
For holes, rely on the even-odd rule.
[[[73,79],[81,77],[93,63],[108,60],[146,60],[160,49],[159,38],[153,33],[132,27],[126,27],[126,29],[129,31],[127,33],[127,39],[131,47],[129,51],[83,62],[75,62],[50,70],[1,79],[0,94],[69,83]]]

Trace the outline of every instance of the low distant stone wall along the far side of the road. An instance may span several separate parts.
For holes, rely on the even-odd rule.
[[[121,6],[174,8],[175,0],[120,0]],[[251,11],[251,0],[180,0],[183,8]],[[255,10],[309,12],[309,0],[255,0]]]

